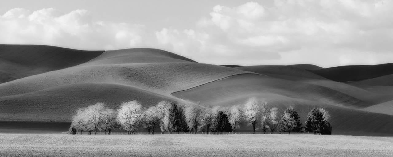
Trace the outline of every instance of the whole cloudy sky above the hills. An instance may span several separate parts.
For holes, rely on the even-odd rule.
[[[393,62],[391,0],[2,0],[0,44],[150,47],[217,65]]]

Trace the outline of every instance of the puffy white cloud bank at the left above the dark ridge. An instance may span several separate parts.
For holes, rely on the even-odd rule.
[[[15,8],[0,16],[0,43],[44,44],[76,49],[121,49],[143,45],[145,26],[92,20],[89,11]]]

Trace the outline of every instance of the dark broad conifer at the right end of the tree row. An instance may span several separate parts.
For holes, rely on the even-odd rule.
[[[313,108],[307,115],[305,130],[314,134],[332,134],[329,113],[323,108]]]

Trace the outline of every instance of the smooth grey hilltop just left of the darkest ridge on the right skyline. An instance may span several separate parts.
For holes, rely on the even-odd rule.
[[[236,69],[264,74],[268,76],[274,75],[273,77],[278,77],[281,79],[289,79],[289,80],[291,80],[290,79],[291,77],[326,80],[326,78],[323,78],[312,72],[292,66],[242,66],[242,67],[237,67]]]

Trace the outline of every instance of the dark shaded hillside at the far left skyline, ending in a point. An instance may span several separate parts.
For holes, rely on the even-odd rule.
[[[43,45],[0,44],[0,83],[82,64],[103,52]]]

